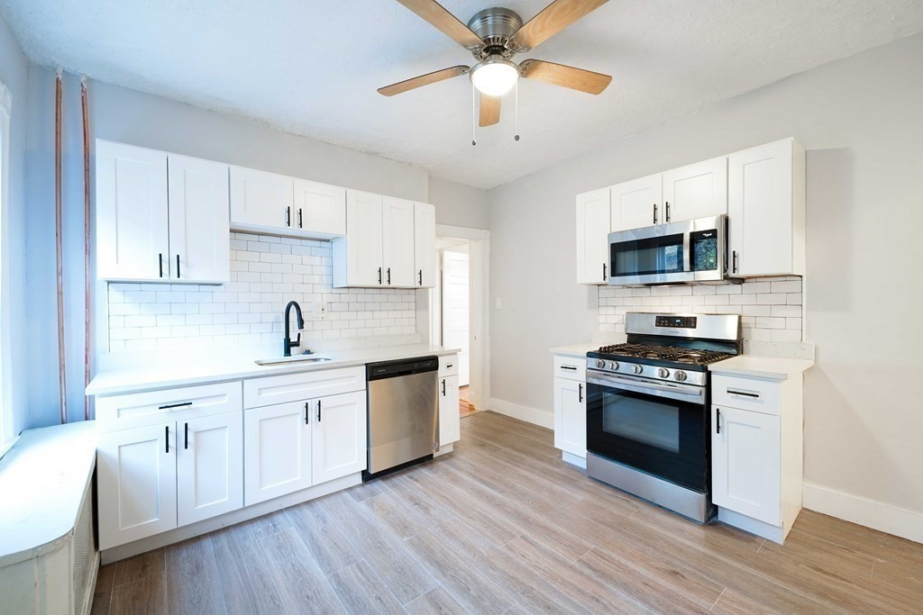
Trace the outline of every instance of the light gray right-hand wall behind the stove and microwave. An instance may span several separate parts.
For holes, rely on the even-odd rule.
[[[806,480],[923,512],[921,66],[923,35],[894,41],[491,191],[492,396],[551,412],[547,349],[593,334],[596,290],[574,282],[574,195],[795,136],[808,149],[818,348]]]

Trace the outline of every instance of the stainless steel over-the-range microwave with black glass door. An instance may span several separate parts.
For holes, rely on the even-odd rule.
[[[717,282],[727,273],[727,217],[609,233],[609,284]]]

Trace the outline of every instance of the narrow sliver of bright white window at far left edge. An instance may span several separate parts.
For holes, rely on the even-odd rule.
[[[13,442],[13,408],[9,376],[9,259],[6,241],[9,202],[9,90],[0,83],[0,455]]]

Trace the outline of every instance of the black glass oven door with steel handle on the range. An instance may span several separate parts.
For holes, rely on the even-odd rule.
[[[704,387],[587,371],[586,447],[693,491],[709,491]]]

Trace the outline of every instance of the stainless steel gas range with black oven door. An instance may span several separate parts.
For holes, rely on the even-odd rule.
[[[740,317],[626,314],[628,342],[587,353],[587,472],[705,523],[708,365],[737,355]]]

